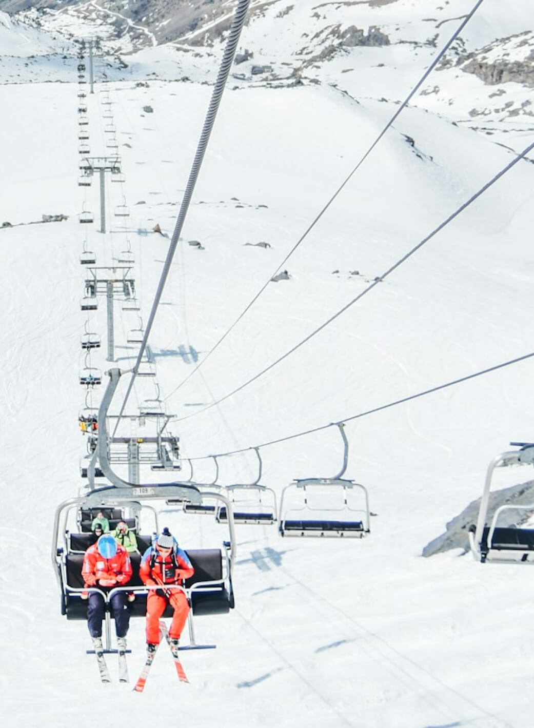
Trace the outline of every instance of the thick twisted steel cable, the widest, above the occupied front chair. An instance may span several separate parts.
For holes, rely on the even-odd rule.
[[[230,74],[232,63],[234,63],[236,47],[239,42],[239,36],[241,35],[244,21],[247,17],[247,9],[249,7],[249,4],[250,4],[250,0],[239,0],[235,13],[234,13],[234,20],[232,20],[232,25],[231,25],[230,31],[228,33],[228,40],[226,41],[226,47],[224,50],[223,59],[221,60],[217,80],[215,81],[215,87],[212,91],[210,106],[208,107],[207,114],[204,119],[202,133],[200,135],[199,143],[198,143],[198,146],[196,149],[193,165],[191,167],[191,172],[189,173],[189,178],[188,178],[188,182],[186,185],[186,189],[183,193],[182,203],[180,205],[180,211],[178,213],[178,218],[175,223],[175,229],[172,232],[169,250],[167,251],[167,258],[166,258],[164,266],[163,266],[162,275],[159,280],[156,294],[154,296],[154,302],[152,304],[150,317],[148,318],[148,323],[146,325],[145,336],[143,337],[143,344],[141,344],[141,346],[140,346],[138,358],[137,358],[137,361],[135,362],[134,368],[132,370],[132,379],[130,379],[130,381],[129,381],[126,396],[124,397],[123,403],[121,405],[121,409],[119,411],[119,417],[117,419],[115,429],[113,430],[113,435],[115,434],[117,427],[119,427],[119,422],[120,422],[121,416],[124,413],[124,408],[127,405],[129,393],[131,392],[133,382],[135,381],[135,377],[138,374],[141,359],[145,352],[148,337],[150,336],[150,333],[152,330],[152,325],[154,323],[154,318],[156,317],[156,311],[159,306],[159,301],[162,298],[164,285],[165,285],[165,282],[167,281],[167,276],[170,272],[172,258],[174,257],[175,250],[178,245],[178,240],[180,240],[180,233],[182,232],[182,229],[183,229],[183,223],[185,221],[186,214],[187,214],[187,211],[189,208],[189,204],[191,202],[191,197],[194,192],[196,180],[198,179],[198,176],[199,176],[200,167],[202,166],[204,154],[207,149],[207,143],[208,143],[208,141],[210,141],[210,135],[212,133],[213,126],[215,123],[215,116],[217,116],[217,111],[218,111],[218,108],[220,105],[220,100],[222,98],[224,88],[226,86],[226,81],[228,79],[228,75]]]

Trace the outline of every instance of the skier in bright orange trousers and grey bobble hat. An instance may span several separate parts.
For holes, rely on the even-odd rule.
[[[143,554],[139,576],[147,586],[159,585],[159,589],[151,589],[146,601],[146,644],[148,652],[152,652],[159,644],[159,618],[167,604],[174,607],[174,615],[169,630],[171,642],[178,645],[180,634],[189,614],[189,604],[185,593],[176,588],[185,579],[192,577],[194,568],[188,555],[178,547],[169,529],[162,534]]]

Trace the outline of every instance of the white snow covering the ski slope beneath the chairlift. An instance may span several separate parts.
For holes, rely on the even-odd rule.
[[[514,11],[514,27],[501,33],[494,13],[501,4],[488,1],[480,44],[519,32],[519,20],[527,29],[529,4],[517,3],[523,14]],[[400,5],[408,12],[410,4]],[[455,3],[464,14],[468,5]],[[2,63],[17,65],[15,56],[28,50],[13,50],[15,37],[9,44],[6,37]],[[185,67],[191,82],[167,80],[176,76],[166,79],[163,65],[154,66],[159,78],[148,76],[166,48],[142,52],[149,60],[131,79],[107,84],[97,60],[95,94],[85,100],[90,154],[118,152],[125,178],[107,184],[102,234],[97,179],[78,186],[73,45],[55,41],[57,54],[70,44],[66,78],[60,55],[39,60],[49,36],[28,38],[35,77],[14,83],[3,75],[0,85],[0,226],[12,225],[0,229],[2,726],[531,728],[533,572],[482,565],[463,550],[421,552],[482,494],[493,456],[511,440],[534,437],[533,359],[350,418],[534,351],[533,164],[517,163],[333,323],[224,398],[382,277],[514,159],[441,111],[407,108],[284,263],[289,280],[269,283],[180,387],[195,366],[183,347],[203,362],[398,108],[380,101],[387,94],[378,87],[356,101],[328,84],[228,84],[150,339],[159,392],[178,417],[171,430],[201,482],[212,478],[210,455],[262,446],[261,482],[281,494],[293,478],[337,473],[342,441],[329,427],[268,443],[350,420],[346,477],[367,487],[375,515],[364,539],[282,539],[276,525],[238,524],[236,607],[196,620],[199,641],[217,649],[183,653],[189,685],[178,683],[162,649],[138,695],[117,681],[113,655],[114,681],[100,683],[95,657],[85,652],[87,625],[60,615],[50,559],[55,509],[84,484],[81,335],[106,336],[104,299],[88,321],[80,310],[79,258],[92,250],[97,265],[112,266],[131,248],[146,325],[169,243],[152,229],[158,223],[172,234],[212,87]],[[50,82],[55,63],[61,83]],[[395,98],[423,73],[426,61],[417,64],[415,57],[410,79],[380,69],[386,86],[396,84]],[[148,87],[136,86],[147,78]],[[455,93],[452,80],[447,92]],[[109,108],[111,119],[103,116]],[[111,123],[117,148],[106,146]],[[518,133],[514,149],[532,141],[532,133]],[[128,218],[113,214],[123,205]],[[82,210],[94,223],[79,223]],[[60,214],[68,219],[40,222]],[[103,372],[131,368],[138,351],[126,341],[138,314],[118,304],[115,313],[115,363],[106,362],[105,346],[90,357]],[[105,379],[90,403],[100,401]],[[155,395],[154,382],[138,381],[129,408]],[[218,463],[223,485],[257,474],[253,450]],[[497,484],[531,478],[518,468],[500,473]],[[157,482],[157,474],[146,468],[141,480]],[[162,505],[160,523],[184,548],[217,547],[205,518]],[[144,620],[132,620],[128,640],[133,681],[144,661]]]

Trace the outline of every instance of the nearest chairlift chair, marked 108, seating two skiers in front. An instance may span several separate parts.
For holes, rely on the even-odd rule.
[[[215,497],[224,501],[224,496],[215,494]],[[103,636],[105,638],[104,652],[111,650],[111,619],[110,598],[116,591],[127,591],[135,594],[135,601],[129,604],[130,618],[146,618],[146,598],[153,587],[143,584],[139,577],[141,553],[152,545],[155,532],[159,532],[159,515],[149,503],[154,501],[165,502],[166,499],[175,499],[183,502],[197,502],[201,498],[194,486],[175,484],[151,484],[147,487],[132,486],[118,488],[104,486],[97,491],[89,491],[85,495],[69,499],[61,503],[55,512],[54,532],[52,536],[52,567],[57,578],[60,592],[60,612],[68,621],[87,620],[87,599],[81,598],[84,591],[99,591],[98,587],[84,587],[81,577],[81,566],[87,547],[94,541],[94,534],[90,531],[93,513],[103,510],[110,527],[116,526],[124,520],[127,510],[134,513],[132,521],[136,531],[140,553],[131,553],[133,575],[124,587],[115,587],[111,593],[103,593],[105,600],[105,622]],[[151,512],[150,526],[143,534],[140,526],[147,521],[147,511]],[[120,514],[119,518],[113,518]],[[183,518],[189,518],[183,516]],[[80,519],[83,519],[80,521]],[[89,525],[87,525],[89,524]],[[137,526],[137,528],[136,528]],[[82,530],[83,528],[83,530]],[[76,529],[76,530],[75,530]],[[236,559],[236,539],[233,526],[228,526],[229,539],[220,547],[188,548],[186,554],[194,566],[194,576],[187,579],[183,586],[191,610],[188,614],[189,644],[183,644],[186,634],[183,634],[180,649],[210,649],[215,644],[199,644],[196,641],[196,620],[203,615],[228,614],[234,608],[234,587],[232,574]],[[154,587],[155,588],[155,587]],[[172,617],[173,607],[167,606],[163,617]]]

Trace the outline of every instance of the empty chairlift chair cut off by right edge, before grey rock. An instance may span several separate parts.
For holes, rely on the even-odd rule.
[[[477,524],[469,529],[471,553],[482,563],[534,563],[534,529],[521,525],[525,521],[525,515],[534,512],[534,503],[517,503],[516,496],[514,503],[490,507],[490,491],[496,468],[534,464],[534,443],[511,445],[520,449],[503,452],[490,462],[480,499]],[[491,510],[494,510],[493,516]]]

